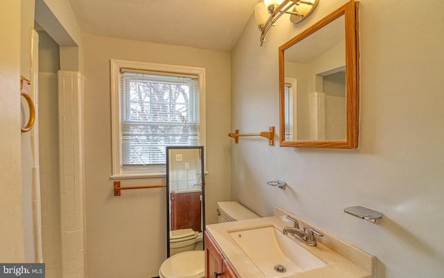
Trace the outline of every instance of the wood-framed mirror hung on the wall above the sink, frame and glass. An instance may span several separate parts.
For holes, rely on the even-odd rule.
[[[351,0],[280,46],[281,147],[358,147],[358,12]]]

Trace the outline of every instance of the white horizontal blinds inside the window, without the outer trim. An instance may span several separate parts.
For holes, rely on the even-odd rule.
[[[166,146],[199,145],[194,75],[121,68],[121,165],[166,163]]]

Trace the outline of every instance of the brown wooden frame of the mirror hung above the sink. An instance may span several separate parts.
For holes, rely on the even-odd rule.
[[[287,41],[287,43],[283,44],[279,48],[279,91],[280,91],[280,146],[281,147],[316,147],[316,148],[342,148],[342,149],[357,149],[358,147],[358,137],[359,137],[359,2],[355,2],[353,0],[349,1],[345,5],[341,6],[330,15],[327,15],[321,21],[318,21],[313,26],[307,28],[307,30],[303,31],[293,39]],[[338,19],[338,20],[336,20]],[[343,44],[345,44],[345,79],[343,86],[345,86],[345,104],[342,104],[343,111],[343,121],[345,127],[343,127],[343,137],[344,139],[338,140],[334,138],[332,140],[328,138],[312,138],[312,134],[314,132],[309,132],[310,138],[302,138],[302,140],[298,137],[291,138],[286,134],[286,126],[287,129],[293,130],[293,128],[289,127],[288,122],[286,122],[286,102],[285,102],[285,86],[286,86],[286,75],[285,75],[285,53],[290,56],[289,48],[295,47],[298,44],[302,45],[302,42],[308,41],[311,37],[314,37],[314,34],[320,34],[322,32],[318,32],[322,29],[327,29],[327,27],[332,25],[334,21],[337,22],[345,22],[343,24],[344,29],[341,30],[343,35],[345,36],[345,41],[343,40]],[[325,33],[325,32],[324,32]],[[318,44],[326,44],[326,41],[319,41]],[[300,48],[301,50],[306,50]],[[301,51],[302,52],[302,51]],[[287,63],[289,64],[289,63]],[[316,78],[316,77],[313,77]],[[288,79],[288,78],[287,78]],[[315,81],[316,82],[316,81]],[[296,83],[298,84],[298,83]],[[316,91],[315,91],[316,93]],[[287,97],[288,98],[288,97]],[[306,97],[308,99],[308,97]],[[311,97],[313,98],[313,97]],[[287,100],[288,101],[288,100]],[[293,105],[293,104],[292,104]],[[300,105],[300,104],[298,104]],[[313,105],[313,104],[311,104]],[[316,104],[315,104],[316,105]],[[345,105],[345,106],[344,106]],[[287,106],[288,107],[288,106]],[[296,106],[297,107],[297,106]],[[293,108],[291,108],[293,109]],[[290,110],[287,109],[287,110]],[[303,110],[303,109],[300,109]],[[296,111],[298,112],[298,111]],[[310,112],[312,113],[312,112]],[[346,115],[345,115],[346,113]],[[325,115],[325,110],[324,110]],[[288,115],[287,115],[288,118]],[[316,118],[316,117],[315,117]],[[296,116],[297,120],[297,116]],[[345,124],[346,120],[346,124]],[[312,129],[312,123],[309,121],[309,129]],[[325,121],[325,120],[324,120]],[[291,122],[291,120],[290,120]],[[297,126],[298,122],[296,122]],[[325,124],[325,122],[324,122]],[[302,126],[302,124],[301,124]],[[305,124],[305,129],[307,129],[307,124]],[[287,130],[288,131],[288,130]],[[325,132],[325,131],[324,131]],[[297,131],[295,131],[297,133]]]

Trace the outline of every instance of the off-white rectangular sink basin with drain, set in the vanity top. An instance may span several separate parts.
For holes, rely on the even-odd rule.
[[[282,277],[319,268],[325,263],[272,226],[230,232],[265,277]]]

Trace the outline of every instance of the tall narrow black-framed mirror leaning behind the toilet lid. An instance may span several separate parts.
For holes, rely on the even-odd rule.
[[[167,255],[203,250],[203,147],[167,147]]]

